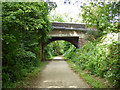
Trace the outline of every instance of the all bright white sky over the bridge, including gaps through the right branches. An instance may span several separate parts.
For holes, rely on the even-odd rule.
[[[78,17],[79,13],[81,13],[80,5],[83,5],[83,3],[88,5],[89,2],[93,2],[93,0],[67,0],[67,1],[70,1],[71,4],[64,4],[65,0],[50,0],[50,1],[56,2],[56,4],[57,4],[57,8],[55,9],[55,11],[51,12],[51,15],[54,13],[60,14],[60,15],[65,15],[65,13],[66,13],[66,14],[68,14],[68,17],[74,18],[74,21],[78,18],[79,18],[79,21],[82,21],[82,17]],[[76,2],[76,1],[79,1],[79,2]],[[104,1],[104,0],[98,0],[98,1]],[[110,1],[114,1],[114,0],[105,0],[105,1],[110,2]],[[78,23],[79,23],[79,21],[78,21]]]

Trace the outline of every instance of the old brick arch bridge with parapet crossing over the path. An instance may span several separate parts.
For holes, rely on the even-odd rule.
[[[65,40],[72,43],[76,48],[81,48],[85,43],[88,31],[95,29],[86,28],[85,24],[52,22],[51,39],[47,44],[56,40]]]

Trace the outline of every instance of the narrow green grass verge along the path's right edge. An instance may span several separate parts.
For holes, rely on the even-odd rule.
[[[67,63],[77,72],[92,88],[108,88],[110,87],[107,82],[103,82],[99,77],[94,75],[89,75],[80,69],[78,65],[75,65],[71,60],[68,60]],[[106,84],[107,83],[107,84]]]

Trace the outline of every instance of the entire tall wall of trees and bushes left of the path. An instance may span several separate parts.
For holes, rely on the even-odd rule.
[[[45,2],[2,3],[3,88],[16,83],[40,65],[40,43],[48,39],[51,24]]]

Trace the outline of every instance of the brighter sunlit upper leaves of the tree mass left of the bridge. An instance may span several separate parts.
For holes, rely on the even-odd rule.
[[[45,36],[50,31],[50,22],[47,17],[49,12],[46,3],[3,2],[2,6],[3,33],[8,34],[9,32],[9,34],[16,36],[20,31],[33,30],[41,35],[41,40],[45,41]],[[17,36],[19,38],[19,35]]]

